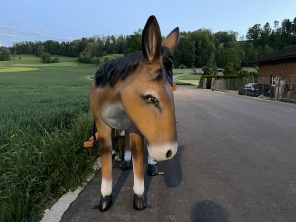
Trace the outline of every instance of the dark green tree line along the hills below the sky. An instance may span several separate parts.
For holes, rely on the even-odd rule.
[[[108,54],[141,51],[142,31],[139,29],[133,35],[127,36],[83,37],[61,43],[55,40],[23,41],[14,43],[8,49],[12,55],[41,56],[42,53],[49,53],[78,57],[81,62],[98,63],[98,57]],[[210,29],[199,29],[193,32],[181,32],[173,65],[175,68],[202,67],[211,60],[221,68],[248,66],[250,60],[296,44],[296,18],[293,21],[284,19],[281,24],[274,21],[273,28],[268,22],[263,26],[255,24],[248,29],[246,40],[244,37],[240,37],[240,40],[237,38],[238,33],[234,31],[213,33]],[[5,58],[7,59],[7,56]]]

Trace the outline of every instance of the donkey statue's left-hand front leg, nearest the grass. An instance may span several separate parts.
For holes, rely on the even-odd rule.
[[[102,120],[96,119],[98,142],[102,165],[102,185],[100,211],[107,211],[112,204],[112,142],[111,128]],[[95,207],[97,208],[97,207]]]

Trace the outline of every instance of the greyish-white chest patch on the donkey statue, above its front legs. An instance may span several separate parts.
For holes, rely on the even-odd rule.
[[[134,128],[133,121],[127,116],[121,103],[107,105],[103,110],[102,119],[108,126],[117,130]]]

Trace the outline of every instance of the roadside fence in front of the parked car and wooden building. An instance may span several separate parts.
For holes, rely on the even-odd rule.
[[[201,87],[205,85],[201,81]],[[278,101],[296,103],[296,75],[288,75],[282,79],[271,77],[243,77],[236,79],[215,79],[213,90],[229,92],[245,96],[265,96]]]

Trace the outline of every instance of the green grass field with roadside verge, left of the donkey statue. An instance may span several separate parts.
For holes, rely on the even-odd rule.
[[[0,73],[1,222],[40,220],[52,199],[85,182],[98,155],[97,148],[83,148],[93,123],[86,77],[98,66],[21,56],[0,61],[0,68],[38,69]]]

